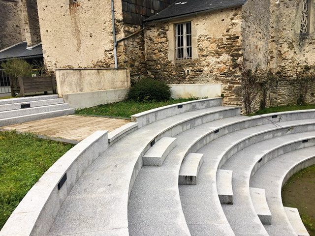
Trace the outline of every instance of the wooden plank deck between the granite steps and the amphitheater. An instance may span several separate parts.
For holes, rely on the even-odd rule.
[[[130,122],[128,119],[68,115],[8,125],[2,128],[82,141],[97,130],[108,130],[110,132],[128,122]]]

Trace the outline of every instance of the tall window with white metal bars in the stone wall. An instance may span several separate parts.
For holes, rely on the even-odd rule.
[[[175,25],[176,59],[191,59],[191,22]]]

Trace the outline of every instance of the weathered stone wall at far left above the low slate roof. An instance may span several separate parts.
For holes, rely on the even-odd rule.
[[[0,1],[0,50],[25,40],[18,2]]]

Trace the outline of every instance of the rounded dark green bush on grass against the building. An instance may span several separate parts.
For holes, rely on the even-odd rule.
[[[166,101],[171,98],[171,87],[154,79],[142,79],[129,89],[128,100]]]

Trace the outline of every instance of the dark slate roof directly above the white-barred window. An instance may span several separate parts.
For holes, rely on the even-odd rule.
[[[168,20],[206,11],[216,11],[230,7],[242,6],[247,0],[177,0],[158,14],[143,22]]]

